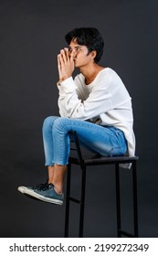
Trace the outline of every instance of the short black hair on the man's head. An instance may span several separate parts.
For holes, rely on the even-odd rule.
[[[92,50],[96,50],[97,55],[94,61],[96,63],[100,61],[100,58],[103,53],[104,41],[97,28],[94,28],[94,27],[75,28],[68,32],[68,34],[65,36],[65,39],[68,45],[73,39],[76,39],[76,42],[79,45],[86,46],[88,48],[89,53]]]

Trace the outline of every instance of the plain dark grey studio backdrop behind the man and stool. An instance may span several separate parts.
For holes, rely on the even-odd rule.
[[[97,27],[106,46],[100,64],[121,76],[132,96],[137,140],[140,237],[158,236],[157,27],[155,0],[0,1],[0,237],[63,237],[65,204],[24,197],[20,185],[47,178],[43,120],[58,115],[57,54],[74,27]],[[79,170],[72,191],[79,191]],[[122,170],[123,226],[132,229],[130,172]],[[115,237],[112,167],[90,168],[85,237]],[[72,205],[70,236],[78,236]]]

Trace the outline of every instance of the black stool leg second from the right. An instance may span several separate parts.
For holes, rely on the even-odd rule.
[[[116,178],[116,210],[117,210],[117,234],[121,237],[121,195],[120,195],[120,169],[119,164],[115,164]]]

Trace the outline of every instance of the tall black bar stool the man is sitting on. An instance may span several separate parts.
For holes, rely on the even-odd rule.
[[[84,207],[85,207],[85,189],[86,189],[86,167],[89,165],[115,165],[116,177],[116,209],[117,209],[117,235],[126,237],[138,237],[138,206],[137,206],[137,176],[136,176],[136,161],[138,156],[99,156],[95,155],[88,159],[83,159],[80,151],[78,135],[73,134],[74,142],[78,157],[69,156],[68,159],[68,176],[67,176],[67,191],[66,191],[66,215],[65,215],[65,237],[68,237],[69,223],[69,202],[73,201],[80,205],[79,213],[79,237],[83,237],[84,224]],[[132,198],[133,198],[133,234],[121,229],[121,192],[120,192],[120,164],[132,164]],[[71,165],[80,165],[81,169],[81,195],[80,200],[70,196],[70,178]],[[127,170],[126,170],[127,171]]]

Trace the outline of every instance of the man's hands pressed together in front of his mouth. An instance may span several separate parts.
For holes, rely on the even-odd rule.
[[[69,55],[68,48],[60,50],[58,54],[58,76],[59,81],[63,81],[72,76],[74,70],[73,55]]]

